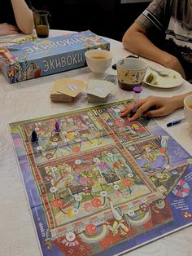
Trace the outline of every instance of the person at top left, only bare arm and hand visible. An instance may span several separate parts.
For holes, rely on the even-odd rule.
[[[2,0],[0,35],[33,32],[33,11],[30,0]]]

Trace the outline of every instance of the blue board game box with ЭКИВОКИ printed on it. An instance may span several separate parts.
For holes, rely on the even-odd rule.
[[[110,50],[110,42],[90,32],[68,33],[0,47],[2,73],[10,83],[85,67],[85,51]]]

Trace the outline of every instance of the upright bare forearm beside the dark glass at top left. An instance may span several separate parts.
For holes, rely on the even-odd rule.
[[[15,20],[18,28],[23,33],[32,33],[33,31],[33,11],[28,8],[24,0],[11,0]]]

